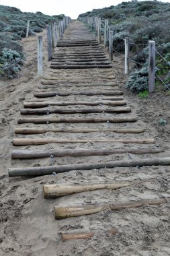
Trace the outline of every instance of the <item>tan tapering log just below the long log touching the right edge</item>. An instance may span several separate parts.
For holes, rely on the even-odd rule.
[[[86,185],[69,185],[69,184],[50,184],[43,186],[43,197],[44,198],[54,198],[62,197],[65,195],[71,195],[74,193],[81,193],[87,191],[94,191],[99,189],[120,189],[121,187],[128,187],[133,185],[138,185],[144,182],[153,182],[155,179],[146,180],[134,180],[134,181],[122,181],[121,183],[96,183],[96,184],[86,184]]]

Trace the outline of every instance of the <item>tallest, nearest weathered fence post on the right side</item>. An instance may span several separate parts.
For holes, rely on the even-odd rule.
[[[148,41],[148,93],[155,91],[155,41]]]

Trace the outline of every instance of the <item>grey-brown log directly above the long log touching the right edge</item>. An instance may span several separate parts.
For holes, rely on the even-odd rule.
[[[116,150],[13,150],[11,158],[13,159],[32,159],[32,158],[49,158],[64,156],[109,156],[112,154],[158,154],[164,152],[160,148],[124,148]]]

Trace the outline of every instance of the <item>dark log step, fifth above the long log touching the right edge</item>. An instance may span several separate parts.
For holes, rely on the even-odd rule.
[[[130,113],[129,107],[115,108],[46,108],[46,109],[22,109],[22,115],[49,115],[49,114],[71,114],[71,113]]]

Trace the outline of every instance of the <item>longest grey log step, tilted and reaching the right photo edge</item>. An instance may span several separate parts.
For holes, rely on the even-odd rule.
[[[93,170],[114,167],[142,167],[142,166],[169,166],[170,157],[167,158],[146,158],[138,160],[120,160],[113,162],[99,162],[99,163],[86,163],[86,164],[66,164],[60,166],[38,166],[38,167],[20,167],[9,168],[9,177],[21,176],[42,176],[49,175],[52,172],[61,173],[69,172],[71,170]]]

